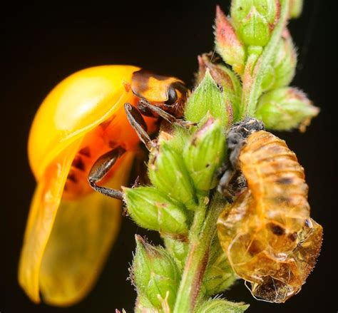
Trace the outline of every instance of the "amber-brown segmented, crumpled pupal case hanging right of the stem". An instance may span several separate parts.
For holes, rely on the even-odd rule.
[[[285,141],[264,130],[248,136],[238,165],[247,188],[220,215],[220,243],[254,296],[285,302],[299,292],[322,244],[304,170]]]

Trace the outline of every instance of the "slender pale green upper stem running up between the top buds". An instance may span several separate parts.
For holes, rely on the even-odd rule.
[[[287,23],[289,1],[290,0],[280,1],[280,19],[272,31],[270,41],[267,43],[260,58],[258,58],[257,62],[250,61],[250,56],[248,58],[243,74],[242,118],[255,114],[257,101],[260,97],[262,79],[265,76],[268,66],[270,66],[277,44],[282,36],[282,31],[285,29]],[[252,66],[255,67],[252,68]]]

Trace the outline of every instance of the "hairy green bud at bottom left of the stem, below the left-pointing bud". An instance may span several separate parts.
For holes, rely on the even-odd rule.
[[[173,308],[180,282],[180,272],[172,257],[163,247],[155,247],[135,235],[136,252],[133,260],[133,282],[157,309],[163,302]]]

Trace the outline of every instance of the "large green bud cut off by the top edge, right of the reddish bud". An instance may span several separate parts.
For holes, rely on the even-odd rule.
[[[247,46],[265,46],[279,15],[277,0],[233,0],[231,18]]]

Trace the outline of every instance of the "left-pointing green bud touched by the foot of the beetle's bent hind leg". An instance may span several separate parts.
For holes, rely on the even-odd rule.
[[[148,230],[169,234],[188,232],[187,216],[180,203],[151,187],[123,188],[130,217]]]

